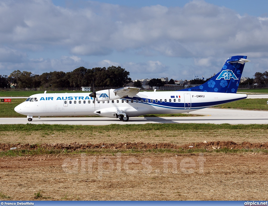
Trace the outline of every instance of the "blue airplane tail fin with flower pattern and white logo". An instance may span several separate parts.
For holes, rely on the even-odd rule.
[[[247,56],[232,56],[227,59],[221,71],[209,81],[180,91],[207,91],[220,93],[236,93],[241,75],[247,60]]]

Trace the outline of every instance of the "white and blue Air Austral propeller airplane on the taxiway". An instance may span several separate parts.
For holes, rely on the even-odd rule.
[[[189,113],[247,98],[237,94],[247,56],[229,57],[221,71],[202,85],[178,91],[140,91],[136,87],[107,89],[92,93],[34,94],[14,108],[17,113],[33,116],[90,116],[118,118],[147,114]]]

